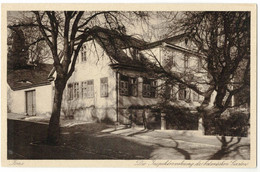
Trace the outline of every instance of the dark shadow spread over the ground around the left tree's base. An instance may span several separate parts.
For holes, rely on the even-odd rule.
[[[78,125],[61,129],[58,146],[43,141],[48,125],[8,120],[8,159],[149,159],[152,147],[103,134],[104,124]]]

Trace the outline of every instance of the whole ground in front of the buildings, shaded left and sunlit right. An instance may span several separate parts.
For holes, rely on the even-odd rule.
[[[43,144],[48,120],[8,114],[8,159],[249,159],[250,140],[227,149],[216,136],[198,131],[144,130],[61,120],[61,142]]]

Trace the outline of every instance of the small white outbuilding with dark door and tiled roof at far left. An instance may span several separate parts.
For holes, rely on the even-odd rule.
[[[48,75],[51,69],[50,64],[39,64],[8,71],[8,111],[27,115],[50,113],[53,96]]]

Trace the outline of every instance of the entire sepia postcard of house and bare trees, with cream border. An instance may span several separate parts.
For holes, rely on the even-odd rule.
[[[255,5],[6,7],[7,166],[255,166]]]

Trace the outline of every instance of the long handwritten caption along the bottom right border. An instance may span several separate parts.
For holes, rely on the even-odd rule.
[[[188,160],[176,161],[176,160],[152,160],[152,161],[145,161],[145,160],[137,160],[134,164],[135,166],[139,167],[246,167],[248,162],[243,161],[194,161],[190,162]]]

